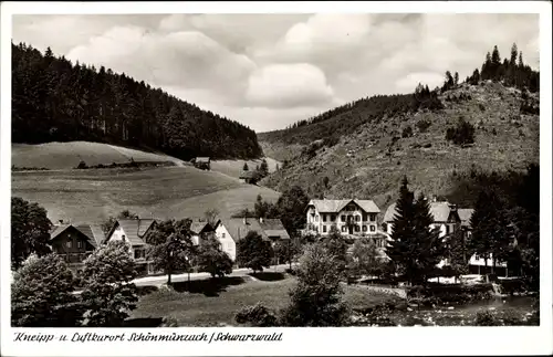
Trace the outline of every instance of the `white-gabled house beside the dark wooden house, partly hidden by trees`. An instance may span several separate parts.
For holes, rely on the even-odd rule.
[[[146,260],[148,244],[145,237],[157,224],[154,219],[119,219],[107,233],[104,242],[123,241],[131,245],[128,253],[138,265],[140,274],[154,273],[150,261]]]

